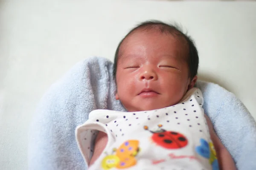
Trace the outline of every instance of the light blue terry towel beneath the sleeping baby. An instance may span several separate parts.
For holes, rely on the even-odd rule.
[[[125,111],[115,100],[113,63],[92,57],[76,64],[41,99],[29,131],[29,170],[84,170],[75,128],[90,111]],[[198,81],[204,111],[239,170],[256,169],[256,122],[233,94]]]

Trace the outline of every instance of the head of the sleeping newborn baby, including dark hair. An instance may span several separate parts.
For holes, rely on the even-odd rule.
[[[114,60],[116,99],[128,111],[175,105],[195,85],[198,52],[177,27],[148,21],[119,43]]]

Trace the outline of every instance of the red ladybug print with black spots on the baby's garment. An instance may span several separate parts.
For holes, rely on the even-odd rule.
[[[162,127],[162,125],[158,125],[158,127]],[[148,130],[148,126],[144,126],[144,129]],[[188,144],[187,138],[181,133],[166,131],[164,129],[160,129],[158,131],[149,131],[153,133],[151,136],[153,142],[166,149],[179,149]]]

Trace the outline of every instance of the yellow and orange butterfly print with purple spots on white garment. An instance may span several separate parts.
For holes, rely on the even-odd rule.
[[[118,149],[113,149],[115,155],[108,155],[102,160],[102,168],[109,170],[113,167],[124,169],[132,167],[137,163],[135,156],[140,152],[138,140],[128,140],[122,143]]]

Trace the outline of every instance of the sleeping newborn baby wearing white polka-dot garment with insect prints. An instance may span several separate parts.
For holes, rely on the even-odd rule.
[[[198,52],[175,26],[149,21],[119,43],[116,99],[128,112],[95,110],[76,128],[89,170],[234,170],[195,88]]]

